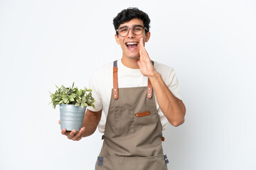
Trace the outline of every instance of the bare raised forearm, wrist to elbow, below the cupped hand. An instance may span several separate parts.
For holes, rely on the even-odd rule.
[[[184,122],[186,113],[183,102],[171,93],[158,72],[155,71],[149,77],[149,80],[156,94],[157,103],[167,120],[169,120],[169,123],[174,126],[181,125]]]

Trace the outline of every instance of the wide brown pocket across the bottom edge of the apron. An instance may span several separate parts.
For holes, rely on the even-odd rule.
[[[96,166],[96,169],[100,168]],[[102,167],[102,166],[101,166]],[[112,157],[105,156],[103,160],[105,170],[167,170],[164,154],[154,157]]]

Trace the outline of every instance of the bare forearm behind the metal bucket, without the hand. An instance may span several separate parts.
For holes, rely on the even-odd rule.
[[[92,135],[96,128],[97,125],[100,122],[102,111],[98,112],[92,112],[90,110],[87,110],[85,113],[85,118],[82,123],[82,125],[85,127],[85,132],[82,133],[82,137],[87,137]]]

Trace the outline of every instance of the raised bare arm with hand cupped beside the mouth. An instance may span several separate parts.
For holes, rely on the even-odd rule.
[[[168,89],[164,81],[161,79],[161,74],[156,72],[156,69],[154,69],[149,55],[144,48],[142,39],[139,42],[139,56],[139,60],[137,61],[139,69],[144,76],[149,77],[161,111],[164,113],[171,125],[181,125],[184,122],[186,108],[183,102],[176,98]]]

